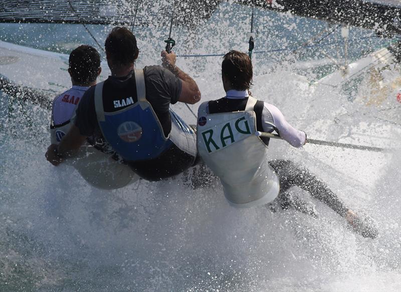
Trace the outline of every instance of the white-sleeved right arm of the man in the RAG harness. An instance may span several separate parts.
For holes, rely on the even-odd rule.
[[[299,131],[291,126],[285,119],[281,111],[274,105],[265,103],[263,111],[263,129],[268,131],[272,128],[268,123],[273,123],[283,140],[294,147],[302,147],[306,143],[305,132]]]

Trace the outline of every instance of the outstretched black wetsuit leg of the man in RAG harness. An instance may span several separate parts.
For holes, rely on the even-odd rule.
[[[269,161],[269,164],[279,177],[280,193],[285,192],[293,185],[297,185],[308,191],[311,196],[326,203],[340,216],[345,216],[348,208],[323,181],[313,175],[306,167],[289,160],[272,160]]]

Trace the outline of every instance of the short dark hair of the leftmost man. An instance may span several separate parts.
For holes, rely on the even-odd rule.
[[[100,55],[95,48],[82,45],[73,50],[68,60],[71,77],[78,84],[96,81],[100,67]]]

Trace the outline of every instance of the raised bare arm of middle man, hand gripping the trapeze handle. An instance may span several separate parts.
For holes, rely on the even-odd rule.
[[[161,52],[163,67],[177,76],[182,81],[182,90],[178,98],[179,102],[195,104],[200,100],[200,91],[196,82],[185,72],[175,66],[175,54],[166,51]]]

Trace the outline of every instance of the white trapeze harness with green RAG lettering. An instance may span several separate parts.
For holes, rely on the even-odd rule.
[[[198,109],[198,153],[220,178],[227,200],[240,208],[267,204],[280,191],[268,148],[255,135],[256,102],[250,96],[238,112],[208,114],[208,102]]]

